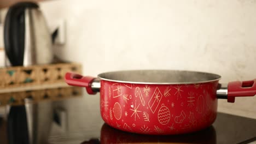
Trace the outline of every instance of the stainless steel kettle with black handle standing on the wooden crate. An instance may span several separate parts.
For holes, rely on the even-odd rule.
[[[50,30],[36,3],[20,2],[9,8],[4,22],[4,48],[13,66],[53,61]]]

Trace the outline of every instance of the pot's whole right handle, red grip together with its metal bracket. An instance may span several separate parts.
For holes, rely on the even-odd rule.
[[[253,97],[256,95],[256,79],[251,81],[232,81],[228,86],[220,85],[217,97],[228,99],[229,103],[235,102],[235,97]]]

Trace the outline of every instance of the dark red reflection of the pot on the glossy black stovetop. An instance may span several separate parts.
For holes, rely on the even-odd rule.
[[[213,126],[197,131],[196,133],[184,135],[141,135],[127,133],[114,129],[106,123],[101,128],[100,141],[91,139],[82,144],[109,144],[109,143],[217,143],[216,130]]]

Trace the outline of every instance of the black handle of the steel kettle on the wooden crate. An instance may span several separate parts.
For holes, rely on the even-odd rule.
[[[25,47],[25,9],[38,8],[36,3],[20,2],[12,5],[4,21],[4,48],[11,65],[23,65]]]

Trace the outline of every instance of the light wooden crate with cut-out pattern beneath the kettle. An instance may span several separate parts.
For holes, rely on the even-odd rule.
[[[78,63],[0,68],[0,93],[68,87],[64,81],[66,72],[81,73],[81,69]]]

